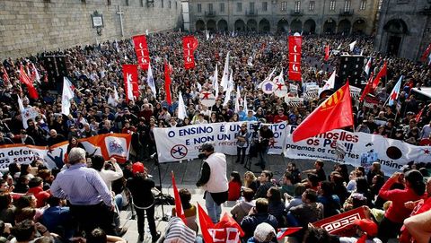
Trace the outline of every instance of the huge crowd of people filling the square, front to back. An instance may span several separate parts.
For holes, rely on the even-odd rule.
[[[146,72],[141,70],[137,100],[125,99],[121,65],[136,63],[130,39],[4,60],[0,65],[0,145],[51,146],[68,141],[65,151],[68,159],[65,164],[57,164],[55,169],[48,169],[39,160],[30,165],[8,165],[8,171],[0,181],[0,220],[4,222],[0,223],[0,231],[4,240],[120,241],[127,229],[120,227],[119,212],[125,205],[132,204],[137,214],[138,239],[144,239],[146,215],[152,241],[156,242],[161,237],[154,224],[156,189],[154,181],[148,178],[145,165],[136,162],[145,163],[156,151],[154,127],[256,120],[264,123],[286,121],[289,125],[298,125],[318,106],[320,100],[316,97],[305,99],[299,106],[289,107],[283,98],[264,94],[258,88],[259,82],[267,78],[275,67],[277,72],[283,70],[286,76],[286,35],[214,33],[206,39],[205,34],[196,33],[199,40],[195,52],[196,67],[189,70],[184,70],[182,63],[181,37],[184,35],[186,33],[168,31],[147,37],[157,87],[155,98],[146,83]],[[431,69],[422,63],[374,52],[373,37],[304,36],[303,82],[290,82],[298,85],[297,95],[302,97],[303,83],[315,82],[322,86],[333,68],[339,65],[336,53],[348,52],[348,43],[354,40],[357,40],[354,52],[362,52],[366,59],[373,58],[374,74],[382,68],[383,62],[388,63],[387,75],[373,93],[379,102],[373,108],[357,100],[354,102],[356,132],[430,145],[431,106],[427,100],[417,100],[411,90],[431,86]],[[337,50],[329,61],[324,60],[325,45]],[[233,99],[223,104],[225,93],[222,89],[216,94],[213,107],[207,108],[199,101],[200,89],[212,91],[212,75],[216,66],[221,68],[224,65],[228,51],[233,81],[249,106],[240,107],[236,112]],[[75,86],[69,116],[61,114],[59,92],[51,90],[56,83],[45,81],[48,72],[42,62],[43,55],[67,56],[68,77]],[[173,67],[172,104],[165,99],[164,61],[169,61]],[[37,100],[27,97],[28,92],[18,73],[23,66],[23,70],[32,76],[32,64],[41,76],[40,84],[36,85],[40,93]],[[386,100],[400,75],[404,75],[400,105],[391,107]],[[220,78],[221,75],[217,80]],[[289,82],[287,77],[285,79]],[[180,91],[187,107],[184,119],[178,118]],[[22,124],[22,112],[16,102],[18,96],[22,98],[24,110],[32,107],[39,113],[34,120],[28,120],[27,128]],[[215,153],[209,146],[203,151],[208,158],[214,158],[204,163],[197,184],[206,188],[207,212],[214,222],[220,220],[221,204],[239,200],[231,213],[246,233],[242,238],[244,242],[276,241],[275,230],[293,226],[303,227],[293,235],[298,242],[315,242],[316,239],[325,240],[319,242],[356,242],[356,239],[346,237],[334,238],[324,230],[310,227],[309,223],[357,207],[365,207],[368,212],[366,221],[355,222],[357,237],[365,235],[367,240],[387,242],[400,235],[400,240],[429,241],[431,223],[427,195],[431,193],[431,180],[427,178],[431,163],[410,163],[403,173],[395,173],[386,181],[379,162],[370,169],[356,168],[350,173],[341,164],[329,177],[324,172],[323,161],[316,161],[315,168],[307,171],[299,171],[295,169],[295,163],[290,163],[283,178],[276,180],[271,171],[265,170],[265,154],[273,135],[268,132],[268,126],[257,127],[257,130],[258,139],[265,140],[264,149],[259,150],[258,166],[262,172],[258,178],[250,171],[243,177],[230,171],[232,177],[228,180],[225,175],[230,172],[225,171],[224,155]],[[121,166],[115,159],[105,161],[94,156],[93,152],[85,152],[79,142],[80,138],[109,133],[132,135],[130,161]],[[244,126],[236,136],[238,163],[244,163],[246,148],[253,145],[251,134]],[[211,171],[214,169],[225,173],[213,178]],[[185,227],[188,232],[178,237],[199,240],[196,237],[197,210],[190,204],[189,191],[181,189],[180,198],[187,223],[172,218],[160,240],[172,239],[172,234],[178,233],[175,230],[178,227]],[[424,221],[428,224],[424,225]]]

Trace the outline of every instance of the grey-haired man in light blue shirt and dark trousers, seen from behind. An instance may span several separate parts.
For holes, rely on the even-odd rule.
[[[99,173],[87,168],[84,149],[73,148],[68,162],[70,167],[58,173],[52,183],[52,195],[69,200],[70,212],[85,233],[101,227],[107,234],[115,235],[110,191]]]

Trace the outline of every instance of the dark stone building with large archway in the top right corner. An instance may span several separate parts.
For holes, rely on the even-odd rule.
[[[430,0],[384,0],[374,48],[418,60],[431,41]]]

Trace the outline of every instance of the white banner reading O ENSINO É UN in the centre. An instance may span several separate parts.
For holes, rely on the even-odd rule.
[[[254,132],[253,124],[248,130]],[[154,137],[159,162],[182,161],[198,158],[203,143],[213,143],[216,152],[236,155],[235,134],[242,122],[201,124],[182,127],[154,128]],[[274,133],[274,141],[269,143],[269,154],[281,154],[286,141],[286,122],[268,124]]]

